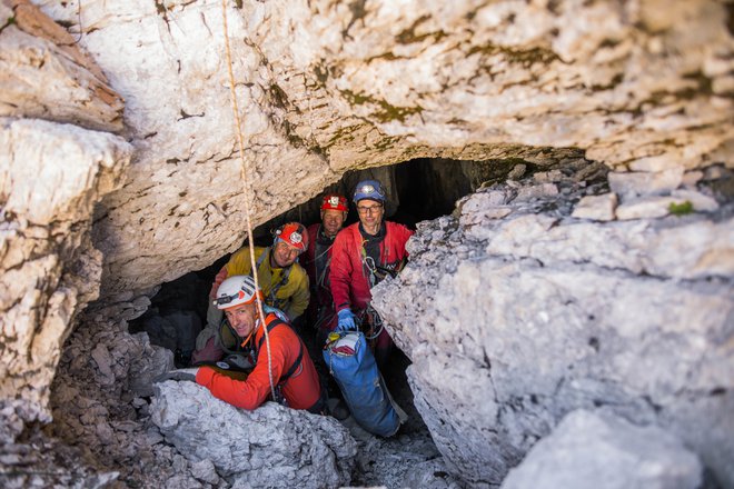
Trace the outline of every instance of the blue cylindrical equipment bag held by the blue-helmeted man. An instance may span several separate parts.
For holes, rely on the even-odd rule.
[[[395,435],[400,418],[365,335],[358,331],[331,332],[324,346],[324,361],[359,426],[380,437]]]

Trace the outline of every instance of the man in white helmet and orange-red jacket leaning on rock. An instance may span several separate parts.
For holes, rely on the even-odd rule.
[[[324,413],[325,399],[306,347],[290,326],[276,313],[266,313],[264,320],[258,318],[255,295],[252,277],[235,276],[221,282],[215,300],[227,319],[219,332],[222,343],[231,350],[248,349],[252,371],[246,380],[236,380],[205,366],[196,372],[196,382],[209,389],[218,399],[252,410],[271,397],[272,379],[276,397],[282,397],[288,407]],[[269,358],[264,326],[270,340]]]

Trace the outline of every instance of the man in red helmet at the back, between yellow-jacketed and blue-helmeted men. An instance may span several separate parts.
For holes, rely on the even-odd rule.
[[[341,230],[347,219],[346,197],[328,193],[321,200],[321,222],[308,227],[310,246],[304,253],[302,266],[308,273],[311,288],[311,301],[308,305],[308,319],[321,339],[326,339],[328,327],[336,311],[329,287],[329,269],[331,266],[331,249],[337,232]],[[319,341],[324,345],[324,341]]]

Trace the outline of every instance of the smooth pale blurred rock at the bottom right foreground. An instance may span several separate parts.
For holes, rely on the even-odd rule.
[[[536,443],[502,489],[694,489],[701,482],[701,462],[676,437],[581,410]]]

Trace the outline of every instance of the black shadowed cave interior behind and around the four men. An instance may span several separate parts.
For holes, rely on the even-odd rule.
[[[338,192],[349,200],[356,183],[364,179],[378,179],[388,193],[385,219],[400,222],[415,229],[421,220],[435,219],[450,213],[462,197],[483,184],[519,178],[534,170],[534,164],[522,159],[458,161],[447,159],[416,159],[398,164],[350,171],[337,183],[324,189],[311,200],[292,208],[255,231],[257,246],[271,243],[271,230],[288,221],[309,226],[319,220],[321,197],[326,192]],[[512,174],[510,174],[512,172]],[[354,203],[345,226],[357,220]],[[139,319],[130,323],[131,333],[147,331],[150,341],[175,351],[177,367],[186,367],[190,360],[196,335],[206,326],[208,296],[217,272],[227,263],[229,255],[211,266],[189,272],[171,282],[163,283],[152,298],[151,307]],[[302,336],[314,332],[304,328]],[[304,338],[307,345],[313,338]],[[318,355],[318,347],[313,349]],[[314,357],[314,355],[311,355]],[[318,361],[317,361],[318,365]],[[406,369],[410,360],[398,348],[394,349],[385,375],[386,382],[397,402],[408,412],[410,421],[405,430],[420,429],[423,420],[413,405]]]

